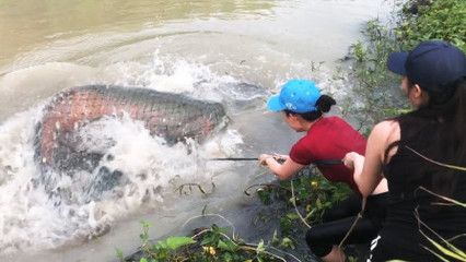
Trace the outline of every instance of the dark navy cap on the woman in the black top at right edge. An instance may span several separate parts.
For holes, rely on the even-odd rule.
[[[424,90],[439,92],[442,86],[466,76],[466,56],[450,43],[428,40],[409,52],[391,53],[387,68]]]

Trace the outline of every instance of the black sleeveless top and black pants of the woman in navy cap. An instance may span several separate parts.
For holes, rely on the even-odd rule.
[[[372,243],[371,259],[438,261],[435,255],[423,248],[427,247],[448,261],[454,261],[430,243],[421,231],[439,243],[442,243],[439,236],[450,239],[466,234],[466,209],[458,205],[435,204],[447,202],[419,187],[465,203],[466,172],[433,164],[410,150],[431,159],[452,164],[454,145],[445,144],[442,140],[445,130],[439,128],[440,123],[436,120],[406,117],[398,122],[400,141],[389,146],[389,148],[397,146],[397,151],[384,166],[389,188],[387,217]],[[452,240],[451,243],[459,250],[466,250],[465,236]]]

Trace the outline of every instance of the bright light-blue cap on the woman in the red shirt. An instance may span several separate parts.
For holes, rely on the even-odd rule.
[[[315,83],[308,80],[290,80],[280,91],[267,102],[267,109],[281,111],[288,109],[293,112],[308,112],[317,110],[315,103],[321,97],[321,91]]]

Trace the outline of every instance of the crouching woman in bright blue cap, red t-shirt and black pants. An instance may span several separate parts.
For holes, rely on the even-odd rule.
[[[322,95],[314,82],[290,80],[279,95],[269,98],[267,108],[280,111],[284,121],[296,132],[306,132],[291,148],[284,163],[275,155],[261,154],[259,160],[267,165],[279,179],[289,179],[300,169],[315,164],[329,181],[349,184],[354,194],[324,213],[323,224],[311,228],[306,242],[311,250],[325,261],[340,261],[345,254],[337,248],[348,233],[356,215],[361,210],[361,196],[354,183],[352,171],[345,167],[343,156],[356,151],[364,154],[365,139],[339,117],[324,117],[335,100]],[[329,159],[333,159],[329,162]],[[385,216],[386,181],[382,181],[374,195],[368,199],[368,212],[357,224],[347,243],[369,242],[382,226]]]

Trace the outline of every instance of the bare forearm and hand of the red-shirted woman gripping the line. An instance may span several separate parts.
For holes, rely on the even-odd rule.
[[[304,167],[304,165],[293,162],[290,157],[286,157],[283,164],[280,164],[276,158],[277,156],[275,155],[261,154],[259,162],[261,165],[268,166],[280,180],[290,179]]]

